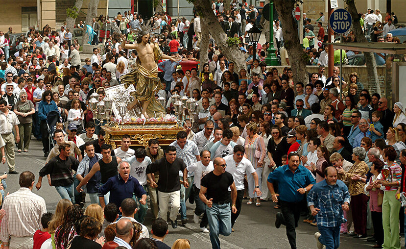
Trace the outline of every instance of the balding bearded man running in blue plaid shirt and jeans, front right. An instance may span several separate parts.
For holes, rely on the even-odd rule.
[[[307,201],[311,215],[317,215],[317,248],[336,249],[340,246],[340,226],[346,222],[343,210],[349,210],[350,193],[345,183],[337,180],[334,167],[327,167],[324,175],[325,179],[310,189]]]

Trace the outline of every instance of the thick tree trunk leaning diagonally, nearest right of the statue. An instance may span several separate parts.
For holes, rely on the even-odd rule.
[[[196,9],[202,13],[200,15],[201,23],[210,27],[210,34],[215,39],[216,45],[220,48],[223,54],[227,55],[229,61],[234,62],[235,71],[239,72],[240,69],[246,68],[244,54],[239,50],[239,47],[228,46],[227,35],[224,33],[224,30],[221,28],[214,15],[211,2],[209,0],[193,0],[193,3]]]

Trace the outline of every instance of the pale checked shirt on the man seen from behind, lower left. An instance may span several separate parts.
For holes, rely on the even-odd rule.
[[[4,199],[5,216],[1,221],[0,240],[9,236],[34,236],[41,229],[41,216],[47,212],[45,200],[28,188],[20,188]]]

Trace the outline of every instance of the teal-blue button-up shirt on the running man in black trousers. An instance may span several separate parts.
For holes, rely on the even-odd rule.
[[[297,190],[316,183],[310,171],[302,165],[299,165],[295,173],[287,165],[279,167],[268,175],[268,181],[278,183],[279,198],[287,202],[303,201],[306,195]]]

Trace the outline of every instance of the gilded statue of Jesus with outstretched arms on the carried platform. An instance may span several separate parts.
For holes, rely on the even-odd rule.
[[[134,102],[128,105],[128,108],[133,108],[139,104],[142,114],[145,119],[157,117],[165,114],[165,108],[155,100],[155,92],[164,89],[161,80],[158,77],[159,59],[169,59],[172,61],[178,60],[176,57],[171,57],[162,53],[157,43],[149,41],[149,32],[142,31],[137,37],[137,43],[126,44],[126,36],[121,36],[123,49],[135,49],[138,56],[136,59],[136,67],[129,74],[120,77],[121,83],[136,84]]]

